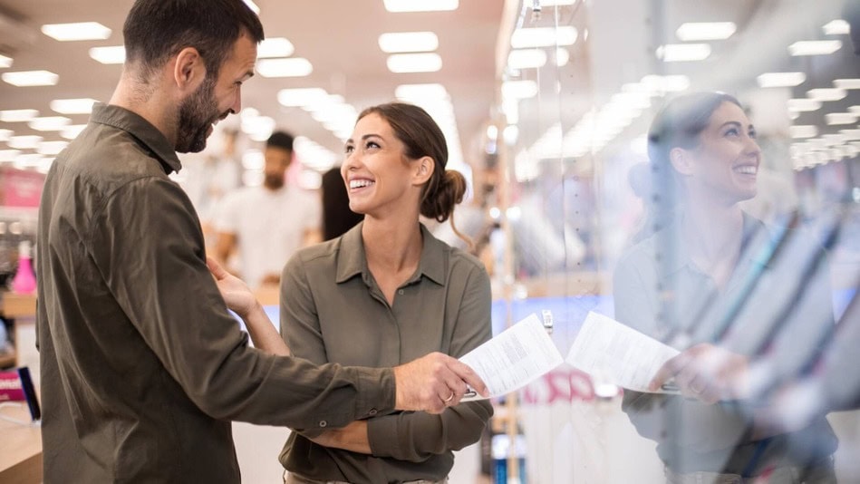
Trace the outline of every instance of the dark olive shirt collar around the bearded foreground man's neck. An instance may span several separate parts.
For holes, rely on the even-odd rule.
[[[127,131],[152,151],[166,172],[182,169],[182,163],[176,155],[176,150],[170,146],[164,134],[150,121],[143,119],[140,114],[120,106],[96,102],[92,105],[90,121]]]

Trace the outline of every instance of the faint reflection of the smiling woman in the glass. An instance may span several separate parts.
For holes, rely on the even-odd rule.
[[[657,441],[672,483],[836,481],[836,437],[823,417],[798,431],[768,433],[756,425],[767,409],[751,411],[719,384],[744,373],[753,354],[718,346],[724,321],[709,316],[729,307],[728,301],[743,300],[751,271],[767,270],[745,251],[765,228],[738,205],[756,195],[761,155],[755,137],[730,95],[701,92],[670,102],[648,139],[652,171],[672,174],[664,178],[672,183],[656,185],[661,189],[653,194],[672,216],[657,218],[665,225],[630,249],[614,275],[615,317],[685,350],[672,371],[683,396],[625,391],[623,400],[637,431]],[[665,203],[674,189],[677,210]],[[826,319],[828,291],[820,294],[820,319]],[[759,301],[768,303],[779,304]],[[830,312],[831,324],[832,317]],[[720,372],[711,372],[716,367]]]

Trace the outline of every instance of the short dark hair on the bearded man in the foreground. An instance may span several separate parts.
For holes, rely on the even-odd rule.
[[[136,0],[122,35],[127,63],[141,67],[143,80],[186,47],[194,47],[217,78],[240,34],[259,44],[263,25],[242,0]]]

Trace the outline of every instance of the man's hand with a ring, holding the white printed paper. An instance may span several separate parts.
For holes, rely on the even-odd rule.
[[[469,387],[487,396],[487,386],[465,363],[443,353],[430,353],[394,367],[398,410],[441,413],[463,398]],[[468,386],[467,386],[468,385]]]

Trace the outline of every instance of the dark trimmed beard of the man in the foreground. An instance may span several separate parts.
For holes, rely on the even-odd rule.
[[[180,153],[206,148],[209,126],[223,115],[218,114],[215,82],[214,76],[206,76],[198,90],[179,105],[176,150]]]

